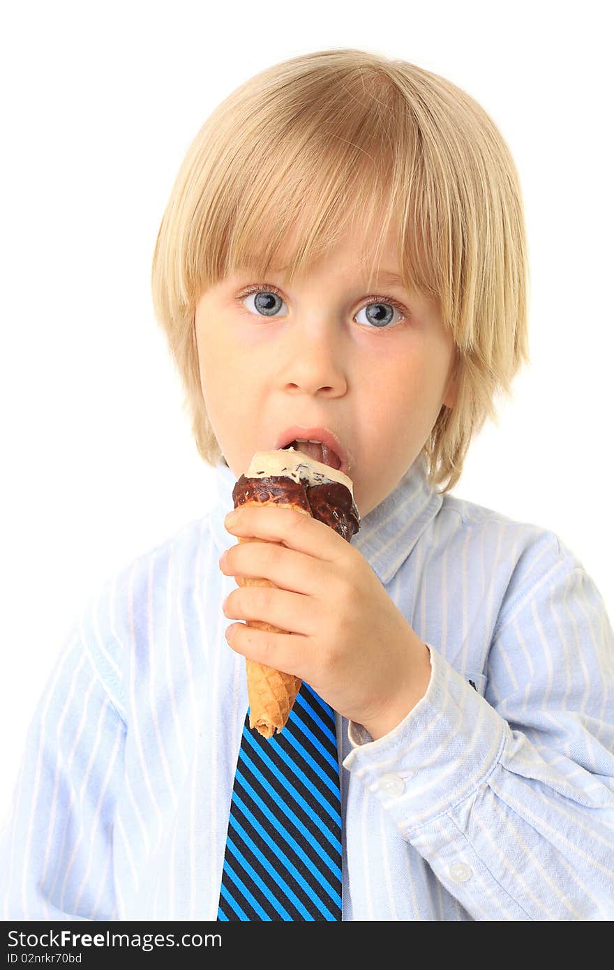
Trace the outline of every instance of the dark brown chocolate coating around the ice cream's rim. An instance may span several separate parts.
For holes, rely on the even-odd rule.
[[[348,542],[360,529],[358,506],[350,490],[341,482],[307,485],[295,482],[289,475],[265,475],[262,478],[242,475],[233,489],[233,501],[235,508],[246,501],[298,505]]]

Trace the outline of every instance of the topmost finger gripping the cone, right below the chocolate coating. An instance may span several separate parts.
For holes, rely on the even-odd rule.
[[[233,535],[281,542],[289,549],[330,563],[339,561],[339,557],[351,548],[349,542],[326,523],[294,508],[242,505],[232,515],[232,522],[227,516],[224,526]]]

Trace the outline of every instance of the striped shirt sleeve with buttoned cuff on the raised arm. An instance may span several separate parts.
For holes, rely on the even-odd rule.
[[[614,634],[553,534],[518,564],[475,689],[427,643],[404,721],[348,726],[343,765],[474,920],[614,918]]]

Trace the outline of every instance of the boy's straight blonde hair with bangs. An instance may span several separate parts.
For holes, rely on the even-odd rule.
[[[392,220],[405,287],[436,300],[454,336],[456,399],[441,406],[423,451],[431,485],[456,484],[471,437],[497,417],[496,394],[511,395],[530,359],[518,173],[469,94],[358,49],[303,54],[245,81],[210,114],[179,169],[151,288],[206,462],[223,456],[200,382],[201,294],[239,266],[266,277],[297,227],[289,280],[357,224],[377,254]]]

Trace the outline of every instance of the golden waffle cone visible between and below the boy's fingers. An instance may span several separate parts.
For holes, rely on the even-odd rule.
[[[275,505],[275,508],[294,508],[304,515],[309,513],[293,502],[278,501],[258,501],[244,502],[244,505],[257,504]],[[243,506],[242,506],[243,507]],[[267,539],[254,539],[239,537],[240,542],[266,542]],[[238,586],[272,586],[275,590],[279,587],[269,579],[259,579],[255,576],[237,576]],[[279,630],[270,623],[261,620],[247,620],[247,627],[256,630],[270,630],[273,633],[285,633],[287,630]],[[282,670],[275,670],[275,667],[268,666],[266,663],[256,663],[245,658],[245,673],[247,675],[247,696],[249,698],[249,727],[255,727],[263,737],[272,737],[277,734],[286,724],[296,696],[301,690],[302,680],[294,674],[284,673]]]

